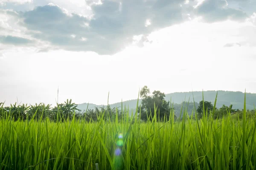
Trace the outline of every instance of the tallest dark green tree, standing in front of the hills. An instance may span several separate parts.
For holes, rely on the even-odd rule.
[[[140,91],[140,97],[142,98],[141,107],[138,108],[138,113],[141,111],[141,119],[147,121],[148,118],[151,121],[154,117],[154,108],[156,107],[157,120],[163,120],[166,116],[166,120],[170,115],[170,102],[164,99],[165,94],[160,91],[154,91],[152,96],[149,95],[150,90],[147,86],[144,86]]]

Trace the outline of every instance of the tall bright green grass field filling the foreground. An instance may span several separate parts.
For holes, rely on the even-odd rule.
[[[178,122],[173,112],[163,122],[157,114],[140,122],[140,113],[111,122],[103,112],[98,122],[74,117],[57,123],[13,121],[6,113],[0,120],[0,170],[95,170],[96,164],[100,170],[256,169],[256,119],[246,119],[244,108],[241,120],[230,113],[213,120],[214,111],[197,119],[194,109],[194,120],[185,106]],[[124,113],[129,111],[122,106]]]

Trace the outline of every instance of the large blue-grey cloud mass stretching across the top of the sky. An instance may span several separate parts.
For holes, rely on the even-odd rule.
[[[36,2],[39,1],[35,0]],[[242,21],[247,17],[244,11],[230,8],[225,0],[204,0],[200,4],[197,0],[101,2],[99,4],[93,0],[86,1],[93,14],[87,17],[54,4],[38,6],[32,10],[18,12],[22,20],[19,24],[26,28],[27,36],[50,44],[39,51],[52,48],[112,55],[131,45],[134,36],[142,35],[137,45],[143,47],[144,42],[149,42],[147,36],[153,31],[198,16],[202,16],[203,21],[208,23],[227,19]]]

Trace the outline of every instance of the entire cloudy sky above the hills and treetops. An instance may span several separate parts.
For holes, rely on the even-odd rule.
[[[256,0],[0,0],[6,105],[256,93],[255,65]]]

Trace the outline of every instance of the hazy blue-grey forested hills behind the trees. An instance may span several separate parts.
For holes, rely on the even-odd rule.
[[[217,91],[204,91],[204,100],[210,101],[212,104],[215,102]],[[180,108],[182,102],[193,102],[193,96],[195,102],[199,103],[203,99],[202,91],[194,91],[194,92],[176,92],[166,94],[165,99],[170,101],[172,99],[172,103],[174,103],[174,107]],[[185,100],[186,99],[186,100]],[[140,105],[141,99],[139,99]],[[216,107],[221,108],[222,105],[233,105],[234,109],[242,110],[244,108],[244,93],[240,91],[218,91]],[[79,104],[77,108],[80,110],[86,110],[88,103]],[[117,107],[121,109],[121,105],[128,107],[130,111],[136,110],[137,99],[128,100],[118,103],[111,104],[111,108]],[[256,105],[256,94],[246,93],[246,109],[252,110],[254,109],[254,105]],[[95,107],[102,107],[103,105],[95,105],[89,103],[88,109],[95,109]],[[177,110],[179,113],[179,110]],[[189,111],[188,111],[189,112]]]

